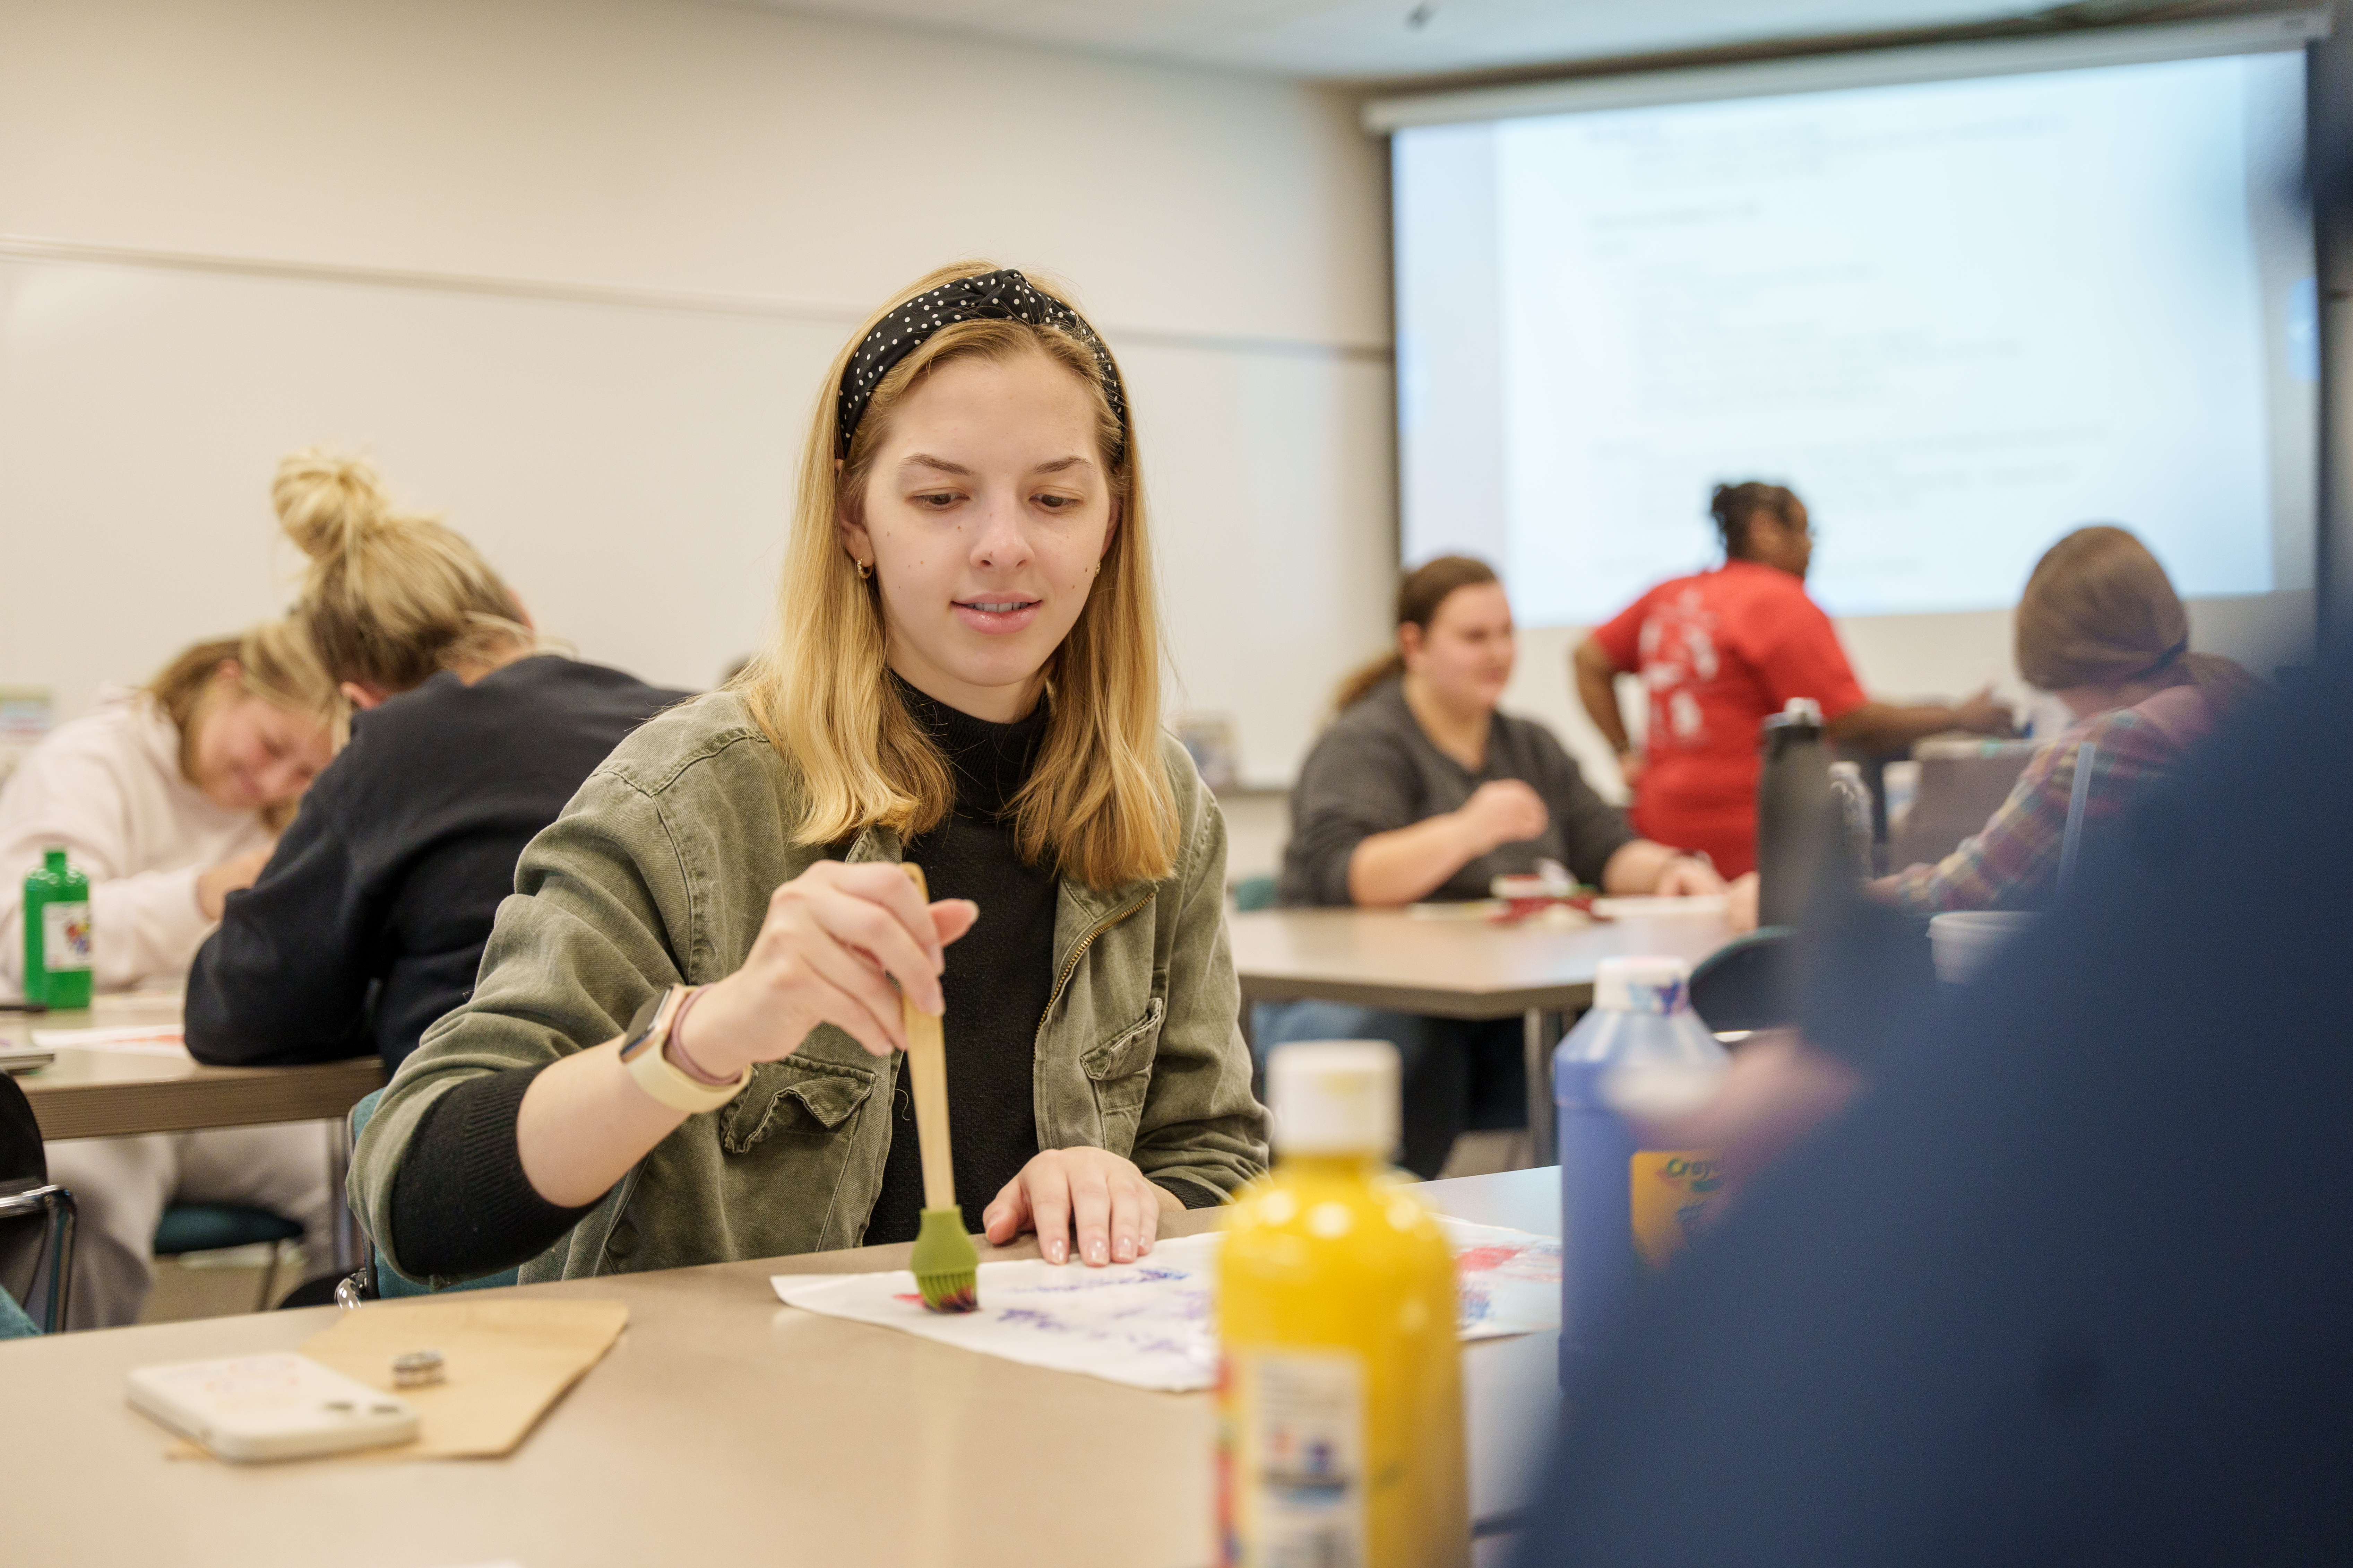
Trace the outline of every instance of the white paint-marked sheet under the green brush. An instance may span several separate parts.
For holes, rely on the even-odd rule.
[[[1454,1246],[1466,1340],[1560,1326],[1560,1244],[1520,1229],[1440,1220]],[[1101,1269],[1040,1260],[984,1262],[981,1309],[925,1312],[915,1276],[776,1274],[791,1307],[880,1324],[1026,1366],[1087,1373],[1139,1389],[1217,1382],[1209,1298],[1221,1237],[1176,1237],[1141,1262]]]

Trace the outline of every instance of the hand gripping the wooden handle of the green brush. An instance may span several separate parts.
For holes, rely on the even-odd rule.
[[[722,1079],[791,1056],[821,1023],[875,1056],[901,1051],[899,992],[939,1013],[944,950],[979,914],[967,898],[925,905],[896,865],[819,860],[769,896],[751,957],[694,1001],[678,1048]]]

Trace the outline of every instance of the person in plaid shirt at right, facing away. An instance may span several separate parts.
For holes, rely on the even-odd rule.
[[[2181,599],[2139,538],[2092,527],[2052,545],[2019,599],[2019,672],[2066,703],[2075,724],[2035,755],[1977,837],[1873,891],[1922,914],[2049,903],[2085,743],[2097,748],[2085,830],[2099,832],[2254,691],[2240,665],[2188,646]]]

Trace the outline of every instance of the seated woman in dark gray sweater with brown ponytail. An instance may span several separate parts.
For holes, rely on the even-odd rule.
[[[1341,686],[1339,717],[1299,771],[1278,903],[1487,898],[1494,877],[1541,860],[1607,893],[1725,891],[1704,856],[1638,839],[1553,731],[1497,712],[1511,665],[1511,602],[1485,562],[1445,555],[1407,574],[1398,651]],[[1289,1001],[1261,1006],[1252,1034],[1261,1051],[1287,1039],[1395,1041],[1405,1166],[1419,1175],[1438,1175],[1475,1103],[1494,1105],[1501,1126],[1525,1117],[1518,1018]]]

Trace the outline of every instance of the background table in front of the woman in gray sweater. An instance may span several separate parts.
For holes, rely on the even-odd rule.
[[[1546,1013],[1593,1006],[1600,961],[1668,954],[1697,964],[1727,940],[1720,917],[1628,917],[1558,929],[1539,922],[1424,919],[1407,910],[1259,910],[1226,919],[1242,1006],[1348,1001],[1433,1018],[1522,1018],[1527,1135],[1553,1147],[1553,1034]]]

